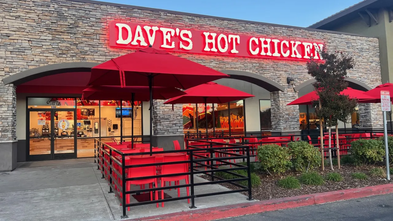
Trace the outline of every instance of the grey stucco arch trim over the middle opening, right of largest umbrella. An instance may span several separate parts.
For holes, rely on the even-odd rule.
[[[285,87],[280,85],[279,83],[268,79],[267,77],[261,76],[259,74],[254,74],[246,71],[238,71],[238,70],[220,70],[220,72],[224,74],[228,74],[231,79],[237,79],[242,81],[247,81],[262,87],[269,92],[273,91],[285,91]]]

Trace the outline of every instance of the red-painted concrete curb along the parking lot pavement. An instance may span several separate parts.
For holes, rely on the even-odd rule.
[[[256,214],[274,210],[296,208],[300,206],[310,206],[348,199],[369,197],[374,195],[383,195],[387,193],[393,193],[393,184],[367,186],[348,190],[337,190],[332,192],[315,193],[310,195],[300,195],[295,197],[270,199],[250,203],[239,203],[226,206],[202,208],[170,214],[142,217],[138,219],[128,219],[127,221],[209,221],[214,219],[224,219],[228,217]]]

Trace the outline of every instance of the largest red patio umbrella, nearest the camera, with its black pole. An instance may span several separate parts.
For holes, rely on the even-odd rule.
[[[187,89],[209,81],[228,77],[219,71],[168,52],[149,48],[122,55],[92,68],[88,86],[120,85],[163,86]],[[152,90],[150,121],[152,122]],[[152,143],[152,127],[150,127]],[[150,150],[151,151],[151,150]]]

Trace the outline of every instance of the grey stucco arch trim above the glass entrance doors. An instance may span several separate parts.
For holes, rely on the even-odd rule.
[[[61,74],[67,72],[90,72],[91,68],[96,66],[95,62],[66,62],[58,64],[49,64],[45,66],[39,66],[37,68],[31,68],[11,76],[5,77],[3,83],[20,85],[28,81],[50,76],[54,74]]]

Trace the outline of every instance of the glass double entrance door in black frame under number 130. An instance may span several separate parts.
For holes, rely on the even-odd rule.
[[[76,158],[75,110],[28,112],[28,160]]]

